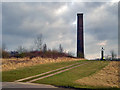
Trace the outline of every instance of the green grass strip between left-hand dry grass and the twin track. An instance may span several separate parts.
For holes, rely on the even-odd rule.
[[[21,78],[37,75],[63,66],[71,65],[77,62],[82,63],[86,61],[67,61],[67,62],[65,61],[65,62],[57,62],[57,63],[46,63],[46,64],[29,66],[29,67],[22,67],[15,70],[3,71],[2,81],[15,81]]]

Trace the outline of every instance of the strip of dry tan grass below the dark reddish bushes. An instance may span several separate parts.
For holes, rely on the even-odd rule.
[[[36,57],[36,58],[8,58],[8,59],[2,59],[2,71],[8,71],[12,69],[17,69],[20,67],[27,67],[27,66],[33,66],[37,64],[46,64],[46,63],[56,63],[56,62],[66,62],[66,61],[75,61],[75,60],[80,60],[76,58],[57,58],[57,59],[52,59],[52,58],[41,58],[41,57]],[[84,60],[84,59],[81,59]]]

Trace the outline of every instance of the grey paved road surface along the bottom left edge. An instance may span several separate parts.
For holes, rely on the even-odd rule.
[[[50,90],[76,90],[73,88],[62,88],[55,87],[52,85],[46,84],[36,84],[36,83],[23,83],[23,82],[2,82],[1,90],[42,90],[42,89],[50,89]]]

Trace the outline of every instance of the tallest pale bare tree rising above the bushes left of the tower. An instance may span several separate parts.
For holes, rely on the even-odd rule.
[[[43,43],[43,37],[42,34],[38,35],[36,39],[34,40],[36,49],[41,51],[42,50],[42,43]]]

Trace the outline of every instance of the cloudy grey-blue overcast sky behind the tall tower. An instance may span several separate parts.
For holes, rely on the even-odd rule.
[[[117,2],[3,2],[2,42],[7,50],[18,46],[33,47],[34,39],[42,34],[50,49],[62,44],[64,51],[76,55],[77,13],[84,15],[84,45],[87,59],[100,58],[118,52]]]

